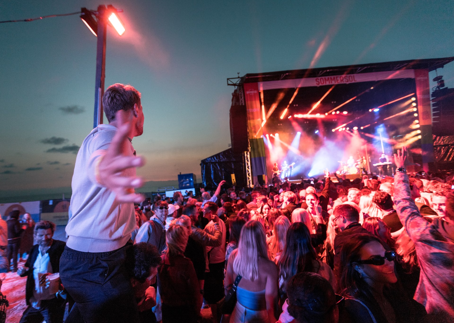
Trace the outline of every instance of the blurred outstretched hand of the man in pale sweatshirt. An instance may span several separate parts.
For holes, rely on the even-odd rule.
[[[145,164],[142,157],[127,155],[128,134],[132,127],[132,117],[124,110],[115,114],[117,132],[98,165],[96,179],[116,194],[119,202],[140,203],[145,198],[142,194],[135,194],[134,189],[143,185],[143,180],[137,176],[126,176],[123,171]]]

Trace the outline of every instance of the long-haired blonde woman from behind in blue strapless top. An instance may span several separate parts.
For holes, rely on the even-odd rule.
[[[227,263],[226,293],[238,275],[242,279],[230,322],[275,323],[278,272],[276,264],[268,259],[265,231],[258,221],[248,221],[241,229],[238,248],[232,251]]]

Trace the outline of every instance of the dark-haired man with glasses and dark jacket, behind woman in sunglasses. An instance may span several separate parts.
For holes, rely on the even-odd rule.
[[[341,248],[354,234],[370,234],[359,224],[360,214],[357,209],[349,204],[341,204],[336,206],[333,212],[334,224],[339,233],[334,238],[334,274],[337,281],[340,281],[340,265],[341,265]]]

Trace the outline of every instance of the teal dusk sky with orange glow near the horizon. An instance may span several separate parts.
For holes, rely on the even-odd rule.
[[[0,20],[99,4],[2,1]],[[181,172],[200,182],[200,160],[228,149],[226,79],[237,72],[454,55],[452,0],[112,4],[124,10],[126,31],[120,37],[108,27],[105,85],[142,93],[144,132],[133,145],[147,161],[138,170],[146,180]],[[0,43],[0,191],[68,187],[93,126],[96,37],[72,15],[0,24]],[[439,70],[449,87],[452,65]]]

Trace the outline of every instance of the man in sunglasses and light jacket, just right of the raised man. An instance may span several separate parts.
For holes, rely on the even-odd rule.
[[[146,242],[158,248],[162,253],[166,248],[166,218],[169,205],[166,201],[156,202],[154,215],[137,232],[134,243]]]

